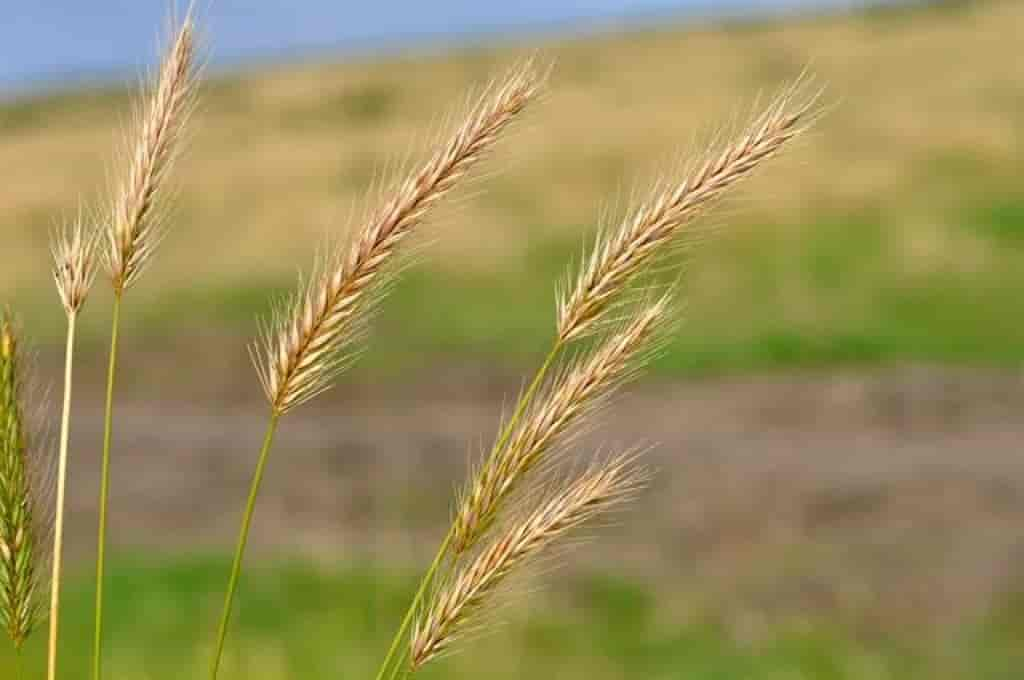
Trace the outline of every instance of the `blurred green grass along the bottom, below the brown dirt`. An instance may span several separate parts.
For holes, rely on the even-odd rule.
[[[108,619],[111,676],[202,677],[226,567],[210,559],[117,565]],[[372,677],[414,577],[369,566],[328,572],[300,563],[254,565],[241,593],[223,677]],[[65,677],[86,668],[92,601],[87,583],[75,580],[67,590]],[[913,631],[901,639],[865,638],[813,620],[762,627],[752,636],[742,626],[687,611],[671,590],[654,586],[599,577],[550,586],[557,594],[505,609],[505,625],[423,677],[1010,680],[1024,665],[1024,608],[1013,604],[940,643],[918,639]],[[28,650],[30,667],[42,661],[42,637]],[[9,668],[6,654],[0,652],[2,669]]]

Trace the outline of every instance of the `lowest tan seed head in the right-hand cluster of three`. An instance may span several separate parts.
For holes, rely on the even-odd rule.
[[[414,670],[445,651],[467,624],[495,595],[509,575],[545,548],[615,505],[645,481],[633,454],[612,459],[561,488],[549,501],[512,521],[506,533],[483,549],[431,598],[411,638]]]

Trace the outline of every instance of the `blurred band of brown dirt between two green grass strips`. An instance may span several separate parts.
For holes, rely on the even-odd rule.
[[[101,364],[86,362],[75,414],[70,534],[82,556],[94,532]],[[227,398],[239,386],[216,380],[176,391],[173,373],[185,367],[133,371],[159,364],[124,363],[112,536],[122,550],[223,550],[263,410],[251,396]],[[167,385],[156,394],[133,383],[155,377]],[[424,559],[515,387],[453,367],[415,388],[350,381],[297,412],[274,451],[255,549]],[[671,580],[709,605],[838,610],[870,630],[962,622],[1024,590],[1024,373],[655,381],[604,420],[579,450],[650,442],[656,476],[578,563]]]

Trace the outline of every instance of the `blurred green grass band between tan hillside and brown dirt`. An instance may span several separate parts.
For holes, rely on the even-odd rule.
[[[895,266],[887,252],[892,235],[878,219],[819,220],[784,240],[770,227],[739,224],[737,236],[709,247],[715,257],[693,258],[686,267],[684,323],[655,370],[1019,364],[1024,316],[1007,310],[1024,295],[1022,213],[1024,201],[1013,200],[965,211],[963,230],[989,242],[990,252],[976,262],[950,257],[920,269]],[[514,272],[411,268],[383,306],[361,370],[408,376],[425,356],[527,363],[551,342],[554,288],[578,254],[575,241],[562,241],[531,249]],[[292,284],[256,279],[172,289],[136,307],[128,323],[140,344],[173,338],[185,325],[222,331],[234,344],[218,351],[241,351],[256,320]],[[49,293],[23,296],[29,302],[19,309],[37,337],[59,328]],[[105,321],[86,315],[87,341],[98,342]]]

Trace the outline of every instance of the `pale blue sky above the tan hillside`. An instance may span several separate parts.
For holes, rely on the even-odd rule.
[[[178,0],[183,4],[184,0]],[[528,30],[586,29],[662,14],[735,13],[851,0],[199,0],[214,63],[360,52]],[[150,63],[171,0],[36,0],[4,8],[0,89]]]

